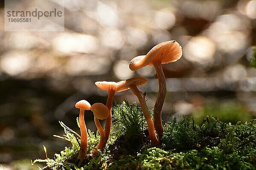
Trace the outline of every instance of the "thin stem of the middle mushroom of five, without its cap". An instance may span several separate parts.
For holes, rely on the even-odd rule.
[[[110,134],[111,122],[112,122],[111,108],[112,108],[112,103],[113,103],[115,93],[116,93],[116,90],[113,90],[113,89],[110,89],[108,91],[108,99],[107,99],[106,106],[108,107],[109,115],[106,119],[106,124],[105,124],[105,144],[104,145],[106,145],[106,143],[108,142],[108,138]]]

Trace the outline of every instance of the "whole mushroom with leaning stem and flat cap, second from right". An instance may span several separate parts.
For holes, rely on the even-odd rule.
[[[143,115],[145,116],[145,119],[148,124],[148,133],[151,139],[151,144],[153,146],[159,146],[157,136],[154,132],[154,124],[148,112],[147,104],[145,102],[145,99],[141,95],[141,91],[139,91],[139,89],[137,88],[137,86],[144,85],[146,82],[148,82],[148,80],[143,77],[135,77],[135,78],[127,79],[124,81],[120,81],[120,82],[117,82],[118,85],[116,88],[116,92],[125,91],[130,88],[131,91],[135,94],[135,96],[137,96],[143,111]]]

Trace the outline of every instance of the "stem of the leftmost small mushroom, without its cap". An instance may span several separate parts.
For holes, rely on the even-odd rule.
[[[87,129],[84,122],[84,109],[80,109],[79,113],[79,125],[81,130],[81,144],[78,154],[78,159],[82,162],[86,156],[87,152]]]

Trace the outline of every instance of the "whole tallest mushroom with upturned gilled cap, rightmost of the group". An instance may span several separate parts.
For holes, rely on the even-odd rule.
[[[175,62],[182,56],[182,49],[179,43],[175,40],[161,42],[154,46],[146,55],[137,56],[131,59],[129,67],[132,71],[143,68],[146,65],[154,65],[158,77],[158,95],[154,105],[154,128],[156,129],[159,142],[162,141],[163,125],[161,112],[164,99],[166,96],[166,80],[163,73],[162,64]]]

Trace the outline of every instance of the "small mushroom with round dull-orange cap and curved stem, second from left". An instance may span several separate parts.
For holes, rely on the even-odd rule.
[[[93,111],[94,115],[94,122],[99,130],[100,140],[99,144],[96,146],[97,149],[103,150],[104,144],[105,144],[105,133],[103,131],[102,126],[99,123],[99,119],[106,119],[109,115],[108,107],[103,105],[102,103],[94,103],[91,108],[91,111]],[[96,155],[98,153],[98,150],[93,151],[93,155]]]

